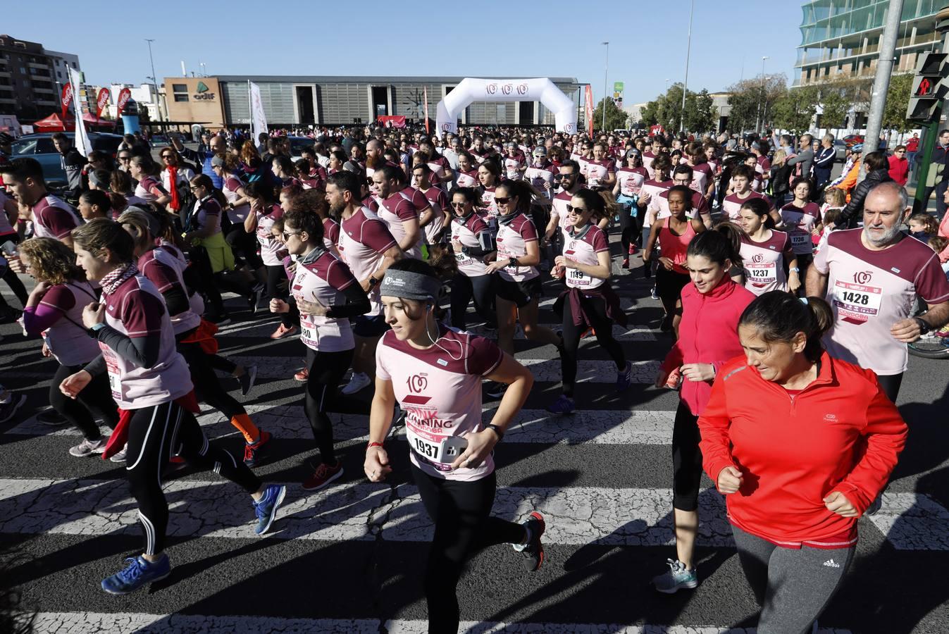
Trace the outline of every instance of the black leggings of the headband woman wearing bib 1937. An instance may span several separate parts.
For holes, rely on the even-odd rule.
[[[456,587],[465,562],[478,550],[495,544],[519,544],[525,531],[491,515],[497,482],[491,475],[474,481],[444,480],[412,465],[425,513],[435,523],[435,536],[425,564],[425,602],[429,634],[458,631]]]

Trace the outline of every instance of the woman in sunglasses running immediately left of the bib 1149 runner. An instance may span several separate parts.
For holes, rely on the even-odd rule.
[[[482,163],[481,167],[484,167]],[[530,214],[532,188],[523,180],[503,180],[494,191],[497,205],[497,252],[486,270],[497,273],[494,279],[494,306],[497,308],[498,345],[514,354],[515,320],[530,341],[561,345],[562,339],[544,326],[537,326],[541,281],[540,243]],[[488,396],[497,398],[506,385],[494,383]]]

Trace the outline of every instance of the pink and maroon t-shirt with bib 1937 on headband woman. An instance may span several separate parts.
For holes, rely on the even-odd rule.
[[[386,332],[376,347],[376,377],[392,382],[405,412],[412,463],[432,477],[478,480],[493,472],[492,456],[474,469],[452,470],[456,457],[441,456],[438,447],[445,438],[481,430],[481,380],[504,353],[488,339],[447,326],[439,325],[438,335],[437,345],[419,350]]]

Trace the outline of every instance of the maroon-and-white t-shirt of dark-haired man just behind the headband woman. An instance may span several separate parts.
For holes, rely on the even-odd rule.
[[[385,223],[367,207],[345,218],[340,224],[340,230],[340,241],[337,244],[340,257],[360,282],[379,269],[383,253],[398,245]],[[371,308],[367,315],[375,316],[381,313],[379,285],[369,293],[369,306]]]

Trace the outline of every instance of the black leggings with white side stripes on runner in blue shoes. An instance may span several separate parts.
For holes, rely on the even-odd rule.
[[[176,402],[135,410],[128,426],[125,471],[129,488],[139,504],[147,555],[158,554],[165,547],[168,501],[161,490],[161,472],[173,450],[191,466],[223,475],[249,494],[260,489],[257,476],[242,461],[211,444],[195,415]]]

